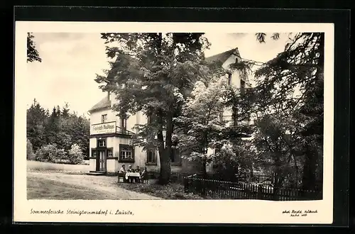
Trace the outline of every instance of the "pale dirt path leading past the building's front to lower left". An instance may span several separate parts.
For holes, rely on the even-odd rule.
[[[36,188],[35,187],[36,184],[38,184],[38,186],[53,186],[53,187],[61,186],[62,188],[60,189],[62,190],[65,190],[65,187],[68,186],[70,187],[71,191],[75,189],[74,191],[75,195],[73,194],[72,197],[86,197],[87,194],[83,194],[83,196],[78,196],[77,193],[89,192],[92,194],[92,196],[94,196],[93,199],[115,199],[115,200],[160,199],[155,196],[150,196],[148,194],[141,194],[135,191],[122,189],[119,186],[117,186],[116,177],[61,174],[61,173],[51,173],[51,172],[49,173],[48,172],[27,172],[27,177],[28,177],[28,188],[32,188],[32,190],[37,190],[36,193],[38,195],[41,195],[39,196],[41,198],[43,198],[43,194],[41,194],[40,191],[41,188]],[[67,190],[69,190],[69,188]],[[31,191],[28,191],[28,193],[30,192]],[[55,197],[60,196],[58,194],[54,194],[54,195]],[[35,194],[32,193],[31,196],[33,197],[35,196]],[[62,199],[70,199],[70,198],[62,198]]]

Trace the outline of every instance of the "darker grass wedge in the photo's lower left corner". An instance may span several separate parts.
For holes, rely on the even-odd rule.
[[[50,179],[28,177],[27,199],[55,199],[55,200],[97,200],[116,199],[116,196],[102,191],[89,189],[86,186],[65,184]]]

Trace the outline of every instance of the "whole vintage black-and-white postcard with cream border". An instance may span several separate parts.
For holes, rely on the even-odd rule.
[[[16,21],[14,222],[333,220],[331,23]]]

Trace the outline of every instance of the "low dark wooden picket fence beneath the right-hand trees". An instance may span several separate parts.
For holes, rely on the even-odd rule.
[[[246,184],[184,177],[185,192],[210,199],[259,199],[271,201],[305,201],[322,199],[322,191],[274,188],[266,184]]]

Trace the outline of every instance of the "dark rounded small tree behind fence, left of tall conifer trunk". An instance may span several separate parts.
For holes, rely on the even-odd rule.
[[[261,165],[273,172],[274,186],[297,186],[300,182],[300,138],[294,119],[270,114],[263,116],[256,124],[253,143]]]

